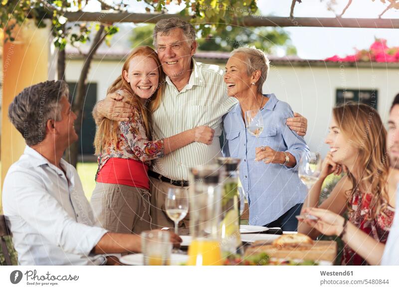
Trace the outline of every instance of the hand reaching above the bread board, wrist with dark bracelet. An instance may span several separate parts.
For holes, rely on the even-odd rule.
[[[308,207],[302,211],[305,215],[315,216],[317,220],[298,218],[300,222],[304,222],[315,228],[320,233],[327,236],[339,236],[343,231],[344,217],[327,209]]]

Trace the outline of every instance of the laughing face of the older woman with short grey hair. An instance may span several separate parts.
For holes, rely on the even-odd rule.
[[[223,78],[228,96],[237,97],[251,86],[251,76],[247,74],[245,62],[247,58],[242,53],[236,53],[228,59]]]

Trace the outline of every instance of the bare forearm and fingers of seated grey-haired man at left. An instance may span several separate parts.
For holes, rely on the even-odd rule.
[[[179,247],[182,239],[170,232],[171,243]],[[141,237],[134,234],[106,233],[93,248],[94,254],[117,254],[141,252]]]

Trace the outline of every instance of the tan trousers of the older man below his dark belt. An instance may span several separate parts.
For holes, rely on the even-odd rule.
[[[168,196],[169,188],[182,188],[167,182],[160,181],[157,178],[150,177],[150,190],[151,190],[151,218],[152,228],[161,229],[164,227],[174,228],[175,223],[168,217],[165,210],[166,197]],[[187,191],[189,187],[183,187]],[[189,214],[179,223],[182,228],[179,232],[185,234],[186,229],[189,228]]]

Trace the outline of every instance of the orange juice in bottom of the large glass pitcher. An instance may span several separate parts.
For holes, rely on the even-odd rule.
[[[221,266],[220,245],[217,241],[194,240],[189,247],[189,266]]]

